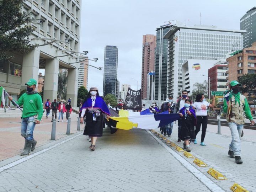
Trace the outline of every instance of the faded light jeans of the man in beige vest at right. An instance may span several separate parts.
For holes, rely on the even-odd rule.
[[[232,135],[232,141],[229,144],[229,150],[234,151],[235,156],[240,156],[240,138],[242,130],[244,129],[244,125],[238,125],[234,122],[230,122],[228,124]]]

